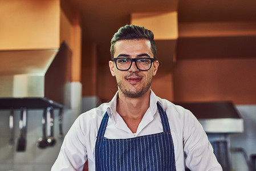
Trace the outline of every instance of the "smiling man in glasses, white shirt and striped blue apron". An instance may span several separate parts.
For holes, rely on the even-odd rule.
[[[52,170],[83,170],[87,160],[89,170],[222,170],[196,117],[151,90],[153,38],[134,25],[116,32],[109,68],[118,91],[76,119]]]

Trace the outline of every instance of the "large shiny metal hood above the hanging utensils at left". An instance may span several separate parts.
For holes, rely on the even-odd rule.
[[[0,51],[0,109],[60,108],[71,81],[71,50]]]

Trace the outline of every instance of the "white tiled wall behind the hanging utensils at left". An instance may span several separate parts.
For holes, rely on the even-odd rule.
[[[67,133],[76,117],[80,114],[81,85],[71,83],[71,109],[63,111],[63,133]],[[56,144],[46,149],[39,149],[36,141],[42,136],[43,110],[28,110],[27,112],[27,144],[25,152],[17,152],[17,140],[19,137],[19,115],[14,111],[14,140],[15,144],[9,146],[9,115],[10,111],[0,110],[0,171],[41,171],[50,170],[59,154],[63,139],[59,139],[58,110],[54,111],[54,137]]]

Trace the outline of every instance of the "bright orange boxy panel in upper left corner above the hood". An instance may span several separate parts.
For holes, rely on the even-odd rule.
[[[0,50],[59,47],[59,0],[6,0],[0,5]]]

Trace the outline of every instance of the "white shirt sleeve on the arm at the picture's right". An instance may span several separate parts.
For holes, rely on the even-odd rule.
[[[202,125],[190,111],[184,113],[184,153],[190,170],[222,170]]]

